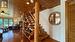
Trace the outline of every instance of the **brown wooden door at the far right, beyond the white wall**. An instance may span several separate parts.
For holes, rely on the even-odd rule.
[[[67,2],[66,4],[67,16],[68,16],[68,42],[75,42],[75,3]]]

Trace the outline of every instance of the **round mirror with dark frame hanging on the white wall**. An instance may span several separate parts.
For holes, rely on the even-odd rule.
[[[53,25],[58,25],[61,22],[61,15],[59,12],[53,12],[49,16],[49,22]]]

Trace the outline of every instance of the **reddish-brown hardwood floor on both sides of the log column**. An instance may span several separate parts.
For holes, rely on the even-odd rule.
[[[33,42],[33,40],[29,41],[22,33],[20,30],[17,31],[8,31],[6,33],[3,33],[3,40],[0,40],[0,42]],[[47,37],[41,42],[57,42],[56,40]]]

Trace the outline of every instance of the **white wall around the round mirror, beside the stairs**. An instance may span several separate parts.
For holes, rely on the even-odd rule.
[[[51,25],[49,23],[49,15],[52,12],[61,13],[60,25]],[[65,42],[65,1],[61,0],[61,4],[59,6],[41,11],[40,24],[53,39]]]

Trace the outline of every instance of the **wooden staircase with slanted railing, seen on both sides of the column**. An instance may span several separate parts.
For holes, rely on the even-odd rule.
[[[28,38],[28,40],[30,40],[30,42],[33,42],[34,41],[34,26],[35,26],[34,14],[27,13],[24,15],[23,19],[24,19],[23,34],[25,35],[26,38]],[[41,42],[58,42],[50,38],[47,32],[44,31],[44,29],[42,28],[41,24],[39,24],[39,40]]]

